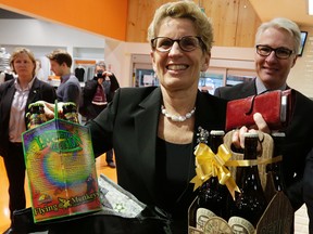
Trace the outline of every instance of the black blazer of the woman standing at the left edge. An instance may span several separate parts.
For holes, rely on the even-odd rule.
[[[14,93],[15,93],[15,79],[9,80],[7,82],[1,83],[0,86],[0,155],[7,155],[7,146],[9,143],[9,121],[10,121],[10,112],[11,105],[13,102]],[[33,87],[29,91],[29,95],[27,99],[25,115],[28,112],[28,105],[30,103],[37,101],[47,101],[49,103],[54,103],[57,99],[55,90],[52,86],[48,84],[45,81],[41,81],[35,78]],[[25,117],[26,125],[26,117]]]

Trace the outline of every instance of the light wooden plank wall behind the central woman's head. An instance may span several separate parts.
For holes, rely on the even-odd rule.
[[[128,0],[126,41],[147,42],[147,28],[154,10],[171,0]],[[249,0],[193,0],[212,20],[214,46],[253,47],[261,20]]]

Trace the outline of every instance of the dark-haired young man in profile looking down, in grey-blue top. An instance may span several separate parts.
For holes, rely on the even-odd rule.
[[[79,107],[82,88],[78,79],[71,73],[72,56],[64,50],[54,50],[47,55],[50,60],[51,70],[61,77],[57,89],[58,102],[73,102]]]

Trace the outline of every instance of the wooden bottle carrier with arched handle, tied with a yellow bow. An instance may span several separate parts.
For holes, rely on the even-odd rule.
[[[224,138],[224,144],[230,148],[233,131],[228,132]],[[260,158],[266,160],[273,156],[273,139],[271,135],[263,133],[262,139],[262,154]],[[230,151],[230,150],[229,150]],[[230,160],[241,160],[243,159],[243,154],[238,154],[231,152]],[[261,219],[259,220],[255,231],[253,234],[286,234],[290,233],[291,225],[293,223],[293,209],[284,192],[277,192],[274,188],[272,180],[267,180],[266,174],[266,164],[258,165],[261,184],[265,194],[265,197],[268,199],[268,205],[263,212]],[[231,177],[236,180],[236,167],[228,167],[231,172]],[[266,188],[265,188],[266,187]],[[191,210],[196,206],[197,197],[191,203],[188,209],[188,220],[191,218]],[[220,217],[205,218],[202,220],[204,222],[204,230],[197,229],[189,224],[188,233],[189,234],[211,234],[211,233],[225,233],[233,234],[231,227],[227,223],[227,220],[223,220]],[[240,232],[238,232],[240,233]]]

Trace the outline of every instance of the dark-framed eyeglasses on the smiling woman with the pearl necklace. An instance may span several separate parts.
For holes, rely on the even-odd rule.
[[[185,36],[179,39],[171,39],[167,37],[156,37],[151,40],[151,47],[153,50],[160,52],[168,52],[174,42],[177,42],[179,48],[185,52],[190,52],[200,48],[200,44],[203,43],[200,37],[196,36]]]

